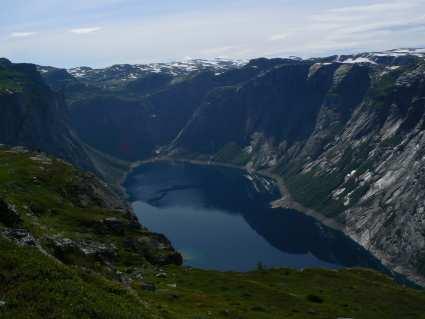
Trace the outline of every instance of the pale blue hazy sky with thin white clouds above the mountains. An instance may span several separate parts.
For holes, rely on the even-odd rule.
[[[1,0],[0,56],[61,67],[425,46],[425,0]]]

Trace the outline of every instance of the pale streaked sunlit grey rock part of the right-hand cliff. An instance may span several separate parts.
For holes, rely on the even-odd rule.
[[[298,200],[338,220],[395,269],[422,278],[424,70],[423,63],[375,70],[344,126],[324,129],[333,117],[324,109],[315,132],[280,166]]]

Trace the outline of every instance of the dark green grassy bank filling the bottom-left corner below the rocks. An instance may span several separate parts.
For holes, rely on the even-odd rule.
[[[144,303],[119,283],[1,237],[0,252],[1,318],[150,318]]]

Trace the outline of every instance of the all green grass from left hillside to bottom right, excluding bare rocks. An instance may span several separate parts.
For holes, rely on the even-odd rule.
[[[59,233],[114,243],[116,267],[131,284],[125,287],[99,263],[65,265],[0,235],[0,301],[6,302],[0,303],[1,318],[425,318],[424,293],[367,270],[241,274],[169,266],[165,278],[157,277],[156,267],[121,245],[123,237],[148,236],[145,230],[97,233],[93,225],[99,219],[123,217],[76,205],[81,173],[32,156],[0,150],[0,197],[17,207],[20,227],[39,239]],[[142,289],[140,277],[131,275],[135,268],[156,291]]]

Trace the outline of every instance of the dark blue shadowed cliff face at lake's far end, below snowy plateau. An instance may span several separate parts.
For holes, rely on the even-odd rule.
[[[167,82],[162,89],[159,86],[164,83],[146,87],[143,81],[133,81],[119,92],[106,90],[76,101],[71,94],[71,119],[78,134],[95,148],[119,158],[148,157],[177,135],[206,92],[215,86],[208,72]]]

